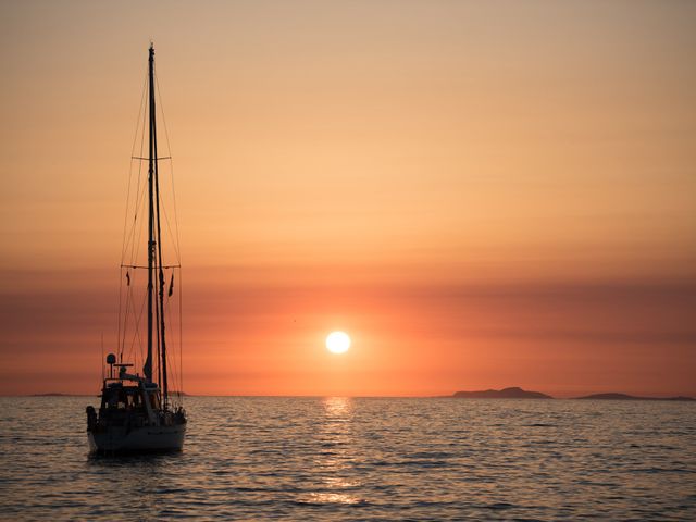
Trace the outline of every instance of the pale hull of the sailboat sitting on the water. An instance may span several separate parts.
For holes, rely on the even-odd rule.
[[[101,433],[87,432],[89,450],[98,452],[181,450],[185,435],[186,424],[144,426],[128,433],[122,426],[111,426]]]

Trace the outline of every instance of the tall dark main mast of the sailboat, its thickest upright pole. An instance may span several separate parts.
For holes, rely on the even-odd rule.
[[[154,45],[150,45],[150,57],[148,60],[149,78],[149,103],[150,109],[150,139],[148,150],[148,357],[142,368],[145,378],[152,381],[152,304],[153,304],[153,275],[154,275],[154,176],[157,165],[157,140],[154,127]]]

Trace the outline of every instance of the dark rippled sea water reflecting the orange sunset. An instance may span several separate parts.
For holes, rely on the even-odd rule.
[[[696,405],[191,397],[184,451],[88,455],[0,398],[2,520],[696,520]]]

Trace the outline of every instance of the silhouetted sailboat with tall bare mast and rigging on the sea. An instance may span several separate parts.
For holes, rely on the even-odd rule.
[[[130,314],[130,321],[135,323],[132,330],[136,332],[132,338],[139,339],[140,344],[144,345],[142,348],[147,346],[147,356],[145,357],[141,373],[133,370],[134,363],[124,362],[124,351],[127,346],[125,340],[126,321],[123,321],[122,333],[122,312],[120,311],[119,357],[114,353],[107,356],[108,374],[104,373],[107,366],[102,363],[101,402],[98,410],[92,406],[87,407],[89,448],[96,452],[181,450],[186,435],[186,411],[179,402],[182,394],[170,394],[169,389],[169,373],[171,373],[171,369],[167,369],[170,355],[167,353],[167,338],[165,336],[167,332],[165,319],[172,315],[169,307],[169,297],[172,296],[173,291],[174,269],[181,268],[181,264],[166,265],[162,256],[162,224],[167,220],[167,216],[164,213],[161,220],[161,210],[163,208],[161,206],[161,184],[158,165],[159,161],[164,158],[158,158],[157,147],[153,45],[149,49],[146,85],[149,135],[148,156],[142,158],[141,154],[133,159],[147,162],[148,165],[147,178],[142,176],[141,197],[138,196],[136,198],[140,202],[134,207],[137,217],[138,209],[147,206],[147,224],[142,224],[147,228],[147,244],[138,250],[147,250],[147,265],[138,264],[137,257],[134,258],[132,256],[130,261],[122,260],[121,270],[122,272],[125,271],[127,293],[132,291],[132,276],[135,279],[136,270],[147,270],[147,286],[144,284],[141,289],[144,302],[142,307],[139,308],[139,310],[147,308],[147,339],[145,341],[142,341],[144,339],[138,328],[139,318],[137,321],[133,319],[137,310],[135,307],[132,308],[134,312]],[[142,105],[142,108],[145,107]],[[146,134],[145,109],[142,111],[141,147],[145,146]],[[145,188],[146,185],[147,189]],[[139,186],[140,182],[138,182]],[[146,196],[147,201],[145,199]],[[134,219],[135,221],[136,219]],[[136,244],[136,239],[140,236],[139,234],[132,234],[130,237],[133,238],[133,244]],[[124,239],[124,252],[125,243]],[[169,291],[165,291],[170,271],[172,272],[171,283],[169,284]],[[126,307],[126,318],[128,316],[128,310]],[[156,370],[154,374],[153,370]]]

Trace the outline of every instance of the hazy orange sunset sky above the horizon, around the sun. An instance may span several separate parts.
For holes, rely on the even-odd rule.
[[[696,396],[696,4],[440,0],[0,2],[0,394],[100,388],[150,41],[187,393]]]

